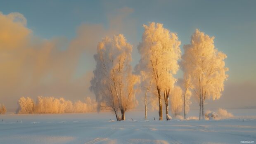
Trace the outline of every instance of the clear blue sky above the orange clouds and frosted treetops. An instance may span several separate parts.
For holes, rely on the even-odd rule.
[[[227,54],[228,83],[250,83],[254,87],[255,7],[255,0],[0,0],[0,12],[23,14],[33,35],[49,40],[62,37],[71,41],[77,37],[82,24],[100,24],[109,30],[113,19],[121,17],[121,22],[112,27],[120,26],[116,34],[123,33],[133,45],[133,66],[140,59],[137,45],[141,41],[143,24],[162,23],[165,28],[178,33],[182,51],[183,45],[190,43],[190,36],[199,28],[215,36],[215,46]],[[126,9],[121,16],[120,9]],[[96,49],[96,46],[97,43],[88,49]],[[83,52],[76,77],[93,70],[92,55]],[[181,76],[180,71],[176,77]]]

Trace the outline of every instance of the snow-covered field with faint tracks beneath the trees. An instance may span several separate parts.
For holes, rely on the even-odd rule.
[[[157,118],[156,112],[149,113],[149,120],[143,120],[143,111],[128,112],[126,121],[114,121],[114,115],[109,112],[7,114],[0,116],[0,144],[241,144],[241,141],[256,142],[256,109],[244,109],[237,113],[235,111],[237,110],[233,112],[235,119],[201,121],[178,119],[158,121],[153,118],[154,116]],[[196,112],[192,111],[192,113]]]

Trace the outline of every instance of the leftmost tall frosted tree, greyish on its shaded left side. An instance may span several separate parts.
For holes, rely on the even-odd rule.
[[[139,78],[132,74],[131,52],[132,45],[119,34],[99,42],[94,55],[96,68],[90,90],[95,94],[99,107],[113,111],[116,120],[125,120],[125,112],[135,106],[134,85]]]

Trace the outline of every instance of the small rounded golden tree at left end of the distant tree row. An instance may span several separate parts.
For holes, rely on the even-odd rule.
[[[21,97],[18,101],[17,113],[28,114],[33,113],[34,111],[34,102],[30,97]]]

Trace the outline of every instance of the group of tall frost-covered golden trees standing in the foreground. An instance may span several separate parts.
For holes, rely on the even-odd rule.
[[[148,104],[157,102],[159,120],[163,120],[164,102],[166,120],[169,120],[169,98],[173,115],[183,111],[186,118],[193,95],[199,103],[199,119],[204,119],[205,100],[219,99],[224,90],[224,81],[228,78],[226,55],[214,47],[214,37],[198,29],[192,34],[191,43],[184,45],[181,55],[177,33],[154,22],[143,27],[142,42],[137,47],[141,59],[133,73],[130,65],[132,46],[122,34],[99,42],[94,55],[94,77],[90,82],[98,110],[110,109],[117,120],[125,120],[125,112],[137,104],[135,92],[138,92],[144,99],[145,119]],[[174,75],[180,67],[183,80],[177,85]]]

